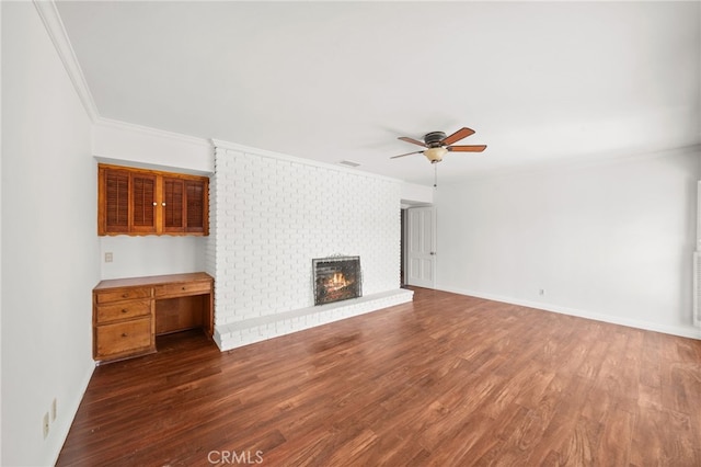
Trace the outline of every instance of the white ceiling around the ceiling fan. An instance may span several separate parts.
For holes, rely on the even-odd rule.
[[[701,143],[701,2],[58,1],[102,117],[433,183]]]

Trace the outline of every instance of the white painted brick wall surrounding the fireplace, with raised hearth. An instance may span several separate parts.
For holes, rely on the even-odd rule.
[[[367,312],[375,294],[378,306],[392,291],[411,299],[399,288],[397,181],[217,148],[210,200],[207,270],[222,349],[346,318],[343,308]],[[338,253],[360,257],[369,300],[363,310],[350,300],[313,318],[312,259]],[[295,310],[303,311],[283,319]]]

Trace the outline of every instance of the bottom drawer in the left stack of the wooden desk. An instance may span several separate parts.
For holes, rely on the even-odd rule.
[[[149,350],[151,345],[151,318],[135,319],[115,324],[99,326],[95,329],[96,357]]]

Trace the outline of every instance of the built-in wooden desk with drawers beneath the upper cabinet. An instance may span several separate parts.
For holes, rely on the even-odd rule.
[[[101,281],[92,291],[93,358],[156,352],[156,335],[202,328],[214,332],[214,278],[206,273]]]

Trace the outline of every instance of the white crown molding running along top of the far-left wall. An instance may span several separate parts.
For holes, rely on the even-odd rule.
[[[58,56],[64,62],[64,67],[73,83],[73,88],[76,88],[76,92],[78,93],[85,112],[88,112],[88,115],[93,123],[97,122],[100,117],[97,106],[95,105],[95,101],[90,92],[83,71],[78,64],[76,52],[68,39],[68,33],[66,33],[64,22],[61,21],[61,16],[56,8],[56,3],[54,0],[33,0],[33,3],[44,22],[44,27],[46,27],[46,32],[51,38]]]

